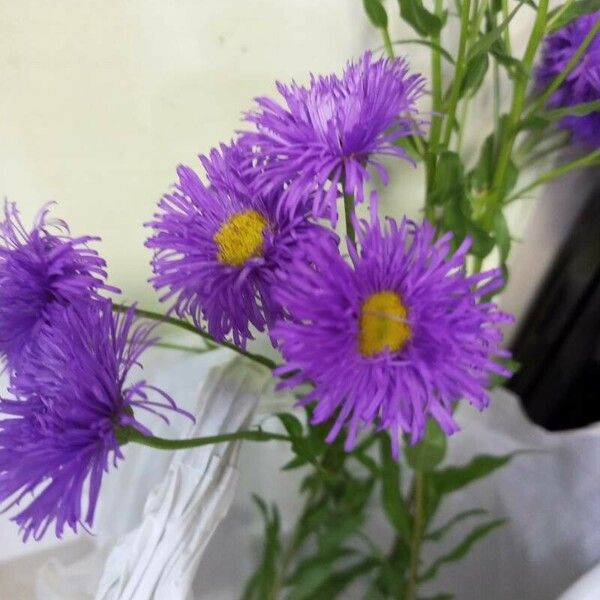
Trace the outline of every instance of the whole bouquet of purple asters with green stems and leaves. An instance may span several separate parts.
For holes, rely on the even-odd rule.
[[[0,357],[10,385],[0,399],[0,501],[24,539],[91,527],[103,475],[124,444],[177,450],[236,439],[288,442],[294,458],[283,468],[307,473],[305,507],[285,545],[277,508],[258,500],[266,535],[247,600],[342,597],[357,578],[367,598],[415,600],[444,562],[502,524],[479,522],[459,547],[422,564],[423,540],[444,533],[431,531],[444,496],[512,459],[440,466],[459,429],[457,404],[485,409],[490,389],[516,368],[502,347],[512,317],[494,302],[509,276],[507,205],[600,162],[600,12],[585,0],[554,10],[521,0],[512,11],[507,0],[434,0],[432,10],[400,0],[419,37],[396,43],[383,0],[363,3],[384,55],[367,51],[307,85],[277,83],[277,98],[258,98],[235,139],[196,168],[178,167],[147,223],[151,284],[166,315],[115,299],[98,238],[71,235],[50,206],[28,228],[5,203]],[[519,11],[532,22],[521,57],[511,44]],[[451,21],[454,54],[443,46]],[[428,78],[395,56],[407,42],[429,47]],[[467,107],[488,76],[495,127],[470,162]],[[394,160],[425,172],[421,222],[382,214],[375,184],[387,185]],[[132,378],[159,324],[272,370],[298,399],[277,415],[285,433],[154,437],[141,411],[194,419],[167,391]],[[248,350],[258,332],[279,359]],[[363,531],[374,498],[394,531],[391,548]],[[352,540],[363,543],[349,549]]]

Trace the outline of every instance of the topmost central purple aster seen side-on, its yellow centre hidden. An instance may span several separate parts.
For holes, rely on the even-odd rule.
[[[388,182],[379,157],[412,162],[400,141],[421,135],[415,102],[424,85],[404,59],[374,61],[370,52],[348,63],[341,78],[311,76],[308,87],[277,83],[285,104],[258,98],[258,109],[246,115],[257,131],[241,138],[264,164],[258,188],[285,184],[287,206],[305,205],[335,224],[340,186],[362,202],[369,168]]]

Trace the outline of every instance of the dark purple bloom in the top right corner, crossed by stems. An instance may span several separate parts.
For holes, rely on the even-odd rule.
[[[583,15],[549,35],[536,70],[537,86],[547,87],[566,68],[587,34],[600,19],[600,11]],[[550,98],[551,108],[565,108],[600,100],[600,34],[596,34],[577,66]],[[600,148],[600,111],[583,116],[567,116],[561,127],[586,146]]]

